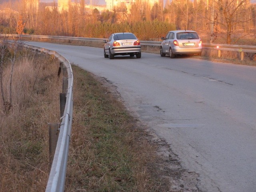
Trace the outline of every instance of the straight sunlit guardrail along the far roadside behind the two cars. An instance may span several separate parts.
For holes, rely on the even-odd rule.
[[[4,37],[24,37],[39,39],[58,39],[58,40],[77,40],[87,42],[102,42],[106,38],[83,38],[83,37],[66,37],[66,36],[44,36],[44,35],[18,35],[18,34],[0,34]],[[160,46],[162,41],[140,41],[144,46]],[[244,59],[244,53],[256,53],[256,46],[248,45],[228,45],[228,44],[206,44],[203,43],[203,50],[217,50],[218,57],[221,57],[222,51],[240,52],[240,59]]]

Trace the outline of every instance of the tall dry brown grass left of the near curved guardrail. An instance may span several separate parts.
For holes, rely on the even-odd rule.
[[[9,98],[10,64],[5,66],[4,93]],[[62,82],[57,72],[58,63],[46,56],[22,57],[14,65],[12,106],[7,113],[0,98],[0,191],[45,190],[49,174],[47,123],[59,121],[56,114]]]

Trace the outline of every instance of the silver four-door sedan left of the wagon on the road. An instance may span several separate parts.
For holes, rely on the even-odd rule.
[[[114,59],[116,55],[136,55],[136,58],[141,58],[140,41],[133,33],[113,33],[103,42],[104,58]]]

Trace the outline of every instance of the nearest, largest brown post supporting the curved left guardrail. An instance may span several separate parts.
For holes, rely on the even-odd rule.
[[[60,132],[60,123],[48,123],[49,128],[49,168],[51,169]]]

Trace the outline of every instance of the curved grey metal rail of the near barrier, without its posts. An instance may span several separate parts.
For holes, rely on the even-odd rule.
[[[68,86],[64,90],[66,93],[66,104],[63,116],[60,118],[60,129],[58,141],[56,144],[55,154],[52,161],[50,175],[46,186],[46,192],[63,192],[66,179],[66,170],[68,162],[68,148],[72,130],[72,117],[73,117],[73,71],[70,62],[62,55],[55,51],[47,50],[36,46],[29,46],[24,44],[25,47],[31,48],[36,51],[44,52],[46,54],[54,55],[66,67]]]

